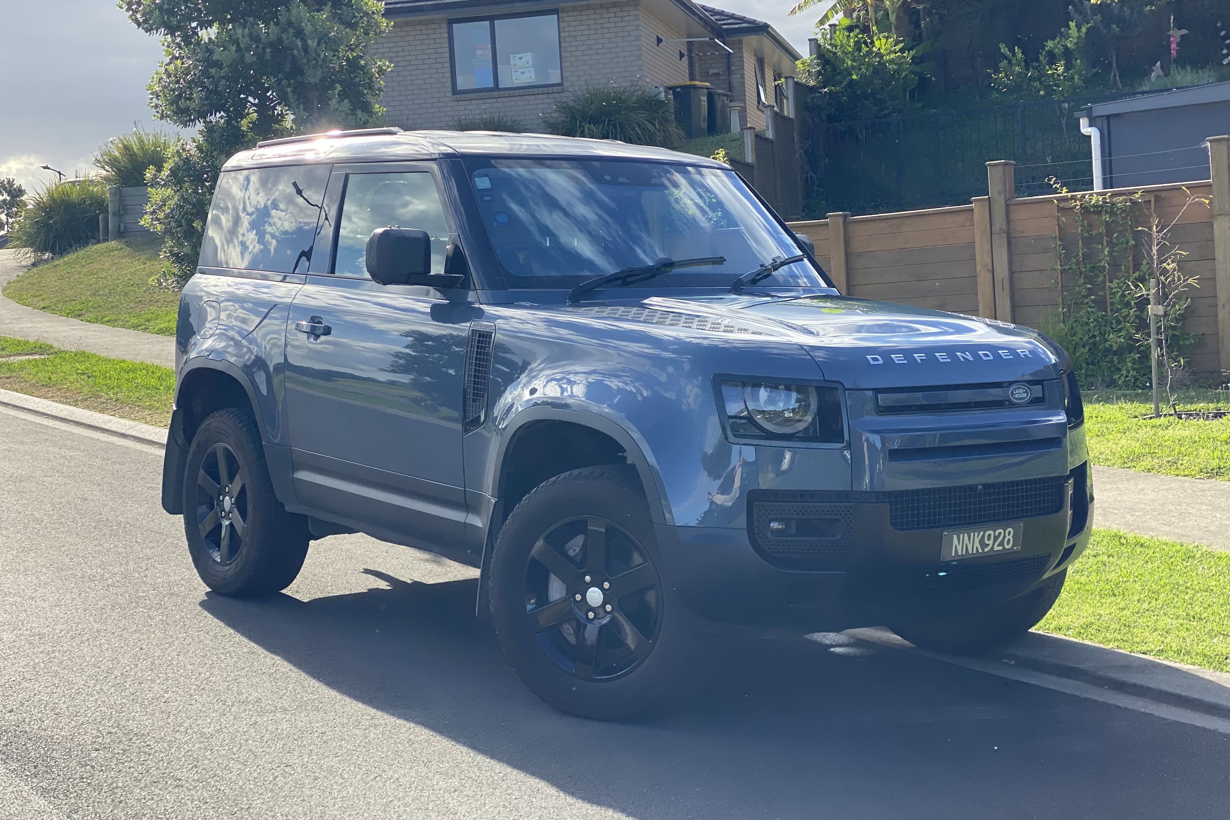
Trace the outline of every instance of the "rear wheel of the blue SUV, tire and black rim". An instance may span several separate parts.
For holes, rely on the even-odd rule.
[[[220,595],[269,595],[299,575],[308,520],[287,512],[274,495],[252,414],[219,410],[192,437],[183,531],[197,575]]]

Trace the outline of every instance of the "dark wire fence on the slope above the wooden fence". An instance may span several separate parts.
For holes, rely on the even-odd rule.
[[[1046,100],[974,111],[934,111],[820,126],[808,158],[808,212],[883,213],[967,204],[986,195],[991,160],[1016,163],[1018,197],[1055,186],[1090,191],[1089,137],[1077,112],[1130,94]]]

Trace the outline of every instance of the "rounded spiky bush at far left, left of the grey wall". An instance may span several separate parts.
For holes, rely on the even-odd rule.
[[[101,180],[64,180],[30,198],[9,231],[9,244],[27,256],[59,256],[98,239],[98,215],[107,213]]]

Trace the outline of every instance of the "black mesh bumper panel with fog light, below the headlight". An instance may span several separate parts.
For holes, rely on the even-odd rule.
[[[850,561],[852,518],[851,504],[760,501],[752,505],[752,538],[774,564],[839,570]],[[815,526],[777,534],[770,529],[774,521]]]

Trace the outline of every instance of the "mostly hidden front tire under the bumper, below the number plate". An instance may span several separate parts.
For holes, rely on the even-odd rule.
[[[889,628],[919,649],[977,655],[1030,632],[1050,612],[1066,577],[1068,570],[1057,573],[1018,598],[962,618],[919,618]]]

